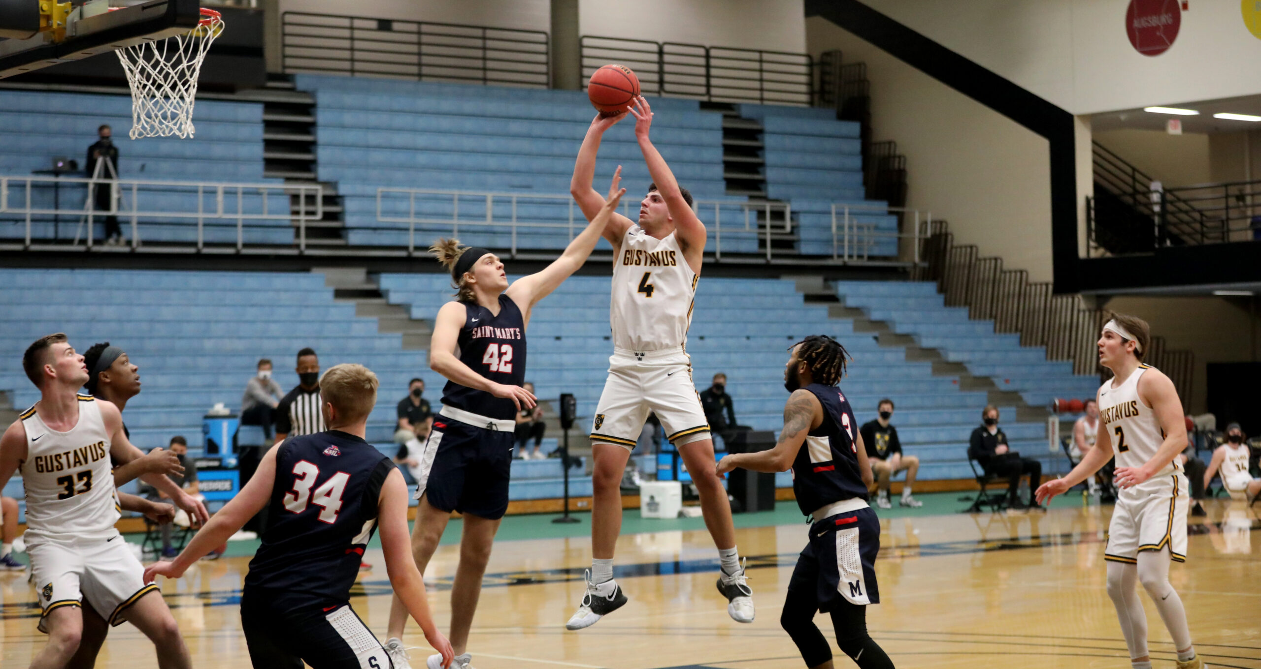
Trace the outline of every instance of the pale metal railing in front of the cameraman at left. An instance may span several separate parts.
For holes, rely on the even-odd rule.
[[[37,185],[61,188],[68,184],[82,184],[86,186],[84,204],[78,207],[42,207],[35,203]],[[98,185],[108,185],[110,208],[97,209],[96,198],[92,195]],[[156,194],[197,194],[197,208],[188,210],[171,209],[146,209],[142,200]],[[0,175],[0,215],[13,214],[25,222],[24,248],[30,248],[33,243],[32,226],[35,217],[61,217],[78,215],[78,226],[87,224],[84,247],[92,248],[93,224],[100,217],[115,215],[131,219],[131,247],[141,246],[140,219],[159,219],[153,224],[169,223],[171,220],[197,222],[197,249],[206,247],[204,229],[209,227],[235,227],[237,232],[236,248],[245,247],[246,220],[290,220],[298,226],[299,248],[306,249],[306,224],[324,217],[324,189],[319,184],[257,184],[257,183],[231,183],[231,181],[174,181],[159,179],[92,179],[79,176],[4,176]],[[261,197],[260,210],[246,210],[246,197]],[[284,197],[282,208],[276,212],[269,205],[269,195],[272,203],[276,198]],[[298,197],[296,213],[293,197]],[[206,198],[214,198],[214,208],[206,210]],[[10,200],[18,198],[19,204]],[[228,205],[236,199],[236,210]],[[314,199],[314,204],[308,204],[308,198]],[[122,207],[120,207],[122,203]],[[227,204],[226,204],[227,203]],[[233,222],[221,223],[221,222]],[[208,223],[209,222],[209,223]],[[72,246],[78,246],[76,242]]]

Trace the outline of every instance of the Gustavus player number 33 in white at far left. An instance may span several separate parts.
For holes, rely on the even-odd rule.
[[[21,470],[26,494],[26,551],[48,644],[32,668],[66,666],[79,646],[86,600],[108,624],[130,621],[158,649],[161,669],[190,660],[175,619],[156,586],[113,524],[119,520],[111,459],[126,464],[142,454],[127,441],[122,416],[111,402],[79,394],[88,380],[83,357],[64,334],[43,336],[23,355],[23,369],[40,391],[0,437],[0,488]],[[170,495],[189,515],[204,514],[195,499],[169,477],[142,479]]]

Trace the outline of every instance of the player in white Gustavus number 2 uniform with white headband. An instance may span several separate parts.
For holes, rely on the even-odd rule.
[[[1100,387],[1100,430],[1073,471],[1038,488],[1038,503],[1067,493],[1093,475],[1116,451],[1120,489],[1108,524],[1107,593],[1116,606],[1134,669],[1151,669],[1148,619],[1135,590],[1142,583],[1178,650],[1178,669],[1203,669],[1187,611],[1169,585],[1169,562],[1187,561],[1187,476],[1177,460],[1187,447],[1182,401],[1169,377],[1142,364],[1150,329],[1135,316],[1113,315],[1098,339],[1100,364],[1112,379]]]

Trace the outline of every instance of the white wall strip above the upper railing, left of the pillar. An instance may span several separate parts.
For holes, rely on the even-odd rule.
[[[551,33],[550,0],[279,0],[280,11],[377,16]]]

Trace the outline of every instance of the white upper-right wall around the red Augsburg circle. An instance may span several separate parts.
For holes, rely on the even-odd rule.
[[[1192,1],[1156,57],[1130,45],[1126,0],[863,1],[1074,115],[1261,93],[1237,1]]]

